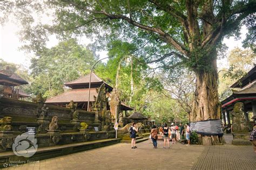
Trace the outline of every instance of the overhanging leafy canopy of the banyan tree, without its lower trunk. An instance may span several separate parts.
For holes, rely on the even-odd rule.
[[[245,45],[252,47],[255,39],[255,1],[214,2],[4,1],[0,20],[8,20],[8,15],[17,18],[23,26],[19,33],[23,47],[29,51],[41,52],[52,34],[59,39],[85,35],[96,40],[97,49],[106,49],[117,39],[131,42],[137,49],[133,55],[163,68],[182,61],[188,68],[209,70],[217,58],[212,51],[221,47],[224,36],[239,37],[241,24],[250,30]],[[47,15],[51,18],[46,24],[37,22]],[[161,59],[170,52],[179,55]]]

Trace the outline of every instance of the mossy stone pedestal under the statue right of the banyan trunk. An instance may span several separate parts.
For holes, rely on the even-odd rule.
[[[252,145],[250,139],[250,133],[248,132],[233,132],[233,145]]]

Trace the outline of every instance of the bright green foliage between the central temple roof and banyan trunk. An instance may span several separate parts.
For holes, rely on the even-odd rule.
[[[148,66],[137,56],[131,55],[134,44],[113,40],[107,45],[108,55],[111,58],[105,65],[100,65],[95,72],[112,87],[116,86],[117,69],[120,64],[118,75],[118,91],[120,100],[137,110],[142,109],[145,98],[150,91],[161,91],[163,86],[155,77],[147,77],[145,71]]]

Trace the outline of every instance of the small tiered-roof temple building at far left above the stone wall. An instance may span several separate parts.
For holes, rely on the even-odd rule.
[[[19,100],[24,100],[24,98],[30,97],[28,94],[19,90],[18,86],[23,84],[28,84],[28,82],[13,73],[9,67],[0,70],[0,94],[4,97],[11,97]]]

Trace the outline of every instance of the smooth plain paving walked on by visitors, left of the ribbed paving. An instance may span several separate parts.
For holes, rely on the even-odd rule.
[[[154,149],[149,141],[137,146],[131,149],[130,144],[119,143],[6,169],[190,169],[204,150],[204,146],[181,144],[163,148],[163,142]]]

